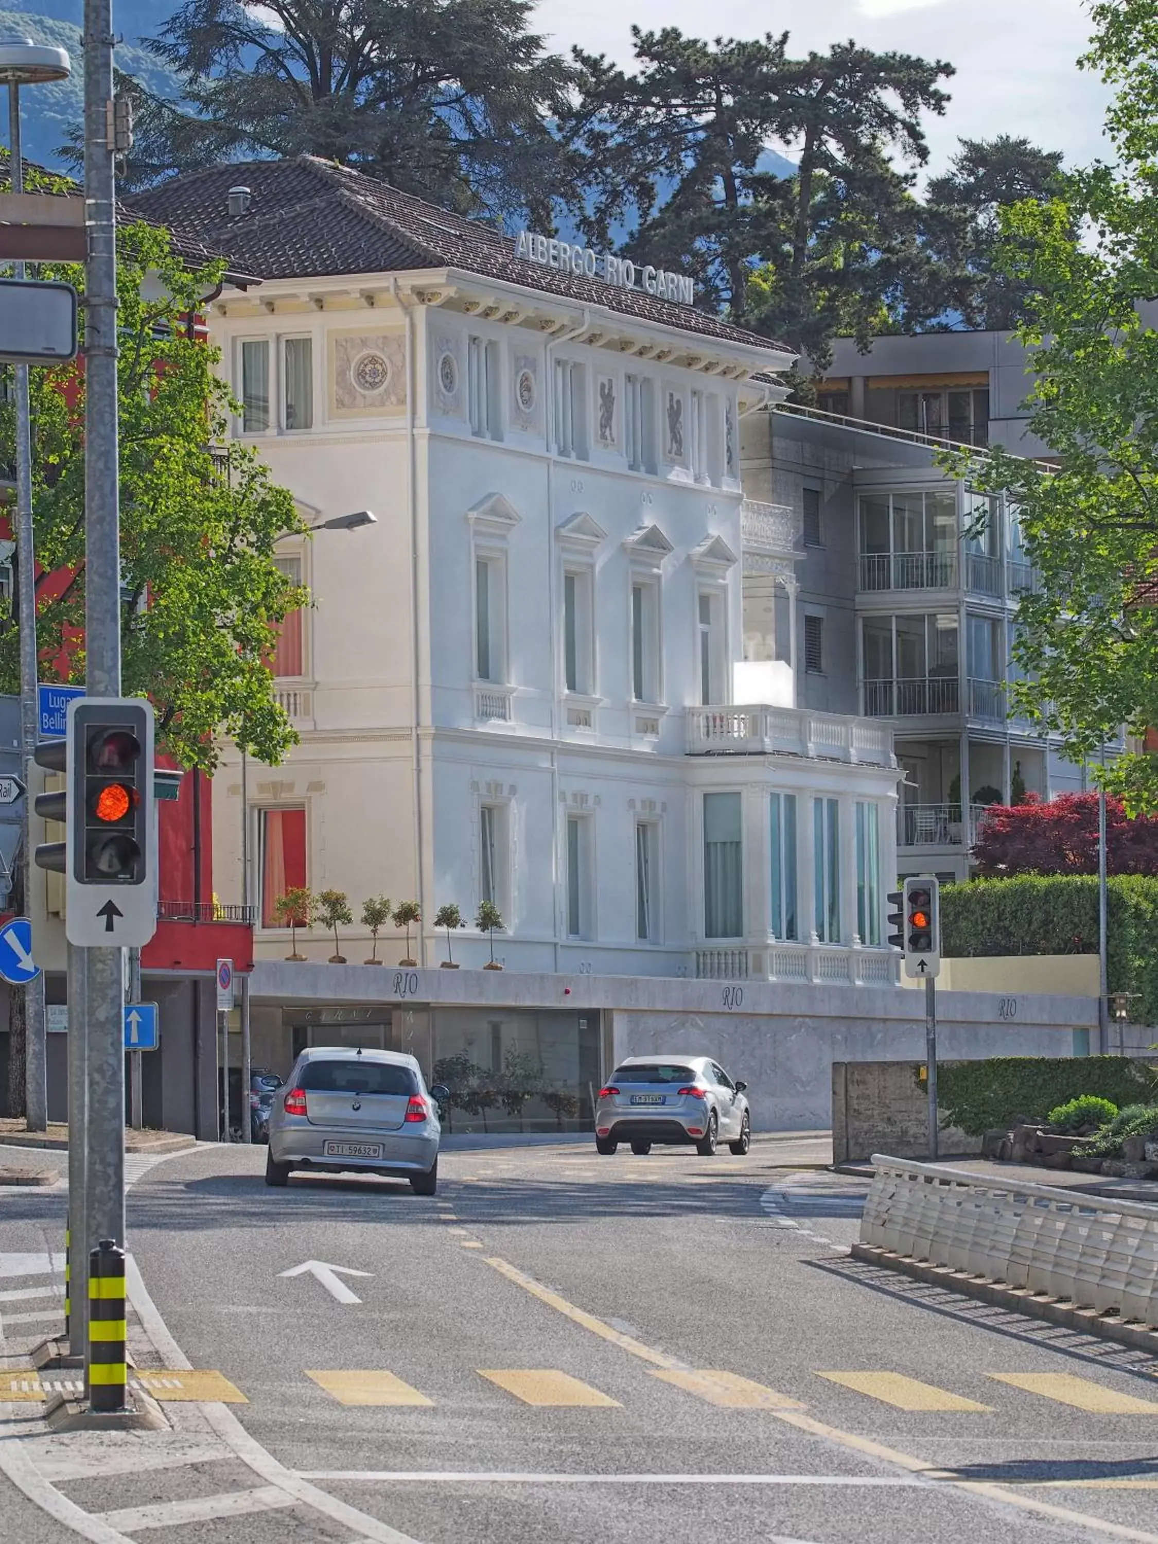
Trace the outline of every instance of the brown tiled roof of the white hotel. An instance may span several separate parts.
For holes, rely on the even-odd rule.
[[[245,215],[230,216],[232,187],[252,191]],[[266,279],[462,269],[664,327],[783,350],[692,306],[516,258],[514,241],[493,227],[315,156],[208,167],[136,193],[130,202],[150,219],[196,233],[235,267]]]

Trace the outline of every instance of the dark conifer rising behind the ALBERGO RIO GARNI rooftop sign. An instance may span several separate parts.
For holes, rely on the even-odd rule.
[[[820,364],[835,332],[896,324],[906,270],[931,259],[889,154],[926,159],[920,114],[943,111],[951,66],[855,43],[792,59],[787,32],[633,37],[635,73],[576,54],[582,94],[560,130],[588,238],[635,221],[628,255],[695,273],[706,306]],[[761,170],[772,144],[798,147],[795,176]]]

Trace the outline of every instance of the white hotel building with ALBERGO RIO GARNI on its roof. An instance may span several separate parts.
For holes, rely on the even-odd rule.
[[[284,543],[313,596],[278,650],[301,743],[215,778],[216,888],[256,903],[258,956],[289,954],[272,902],[309,883],[355,917],[415,899],[420,965],[440,905],[491,899],[514,971],[894,982],[891,727],[797,707],[794,639],[744,662],[746,588],[794,594],[803,557],[740,482],[791,355],[309,157],[133,202],[261,281],[207,315],[236,435],[310,523],[377,516]]]

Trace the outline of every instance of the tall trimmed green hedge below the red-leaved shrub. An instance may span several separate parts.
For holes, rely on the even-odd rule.
[[[1112,875],[1107,920],[1110,991],[1136,994],[1130,1004],[1135,1024],[1158,1024],[1158,879]],[[1096,954],[1098,879],[1093,874],[1019,874],[946,885],[940,892],[940,931],[948,959]]]

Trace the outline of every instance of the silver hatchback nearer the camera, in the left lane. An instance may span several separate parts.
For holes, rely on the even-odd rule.
[[[415,1195],[438,1186],[438,1104],[414,1056],[312,1045],[273,1096],[266,1184],[295,1169],[398,1175]]]

